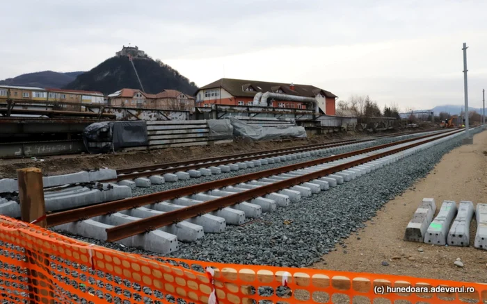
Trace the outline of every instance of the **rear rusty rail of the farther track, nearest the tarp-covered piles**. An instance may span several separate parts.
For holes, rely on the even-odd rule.
[[[306,149],[308,147],[317,147],[317,146],[326,146],[328,144],[346,144],[346,143],[353,143],[353,142],[360,142],[359,140],[340,140],[336,142],[323,142],[321,144],[307,144],[305,146],[294,146],[294,147],[289,147],[289,148],[284,148],[284,149],[274,149],[274,150],[264,150],[264,151],[255,151],[255,152],[248,152],[248,153],[237,153],[237,154],[229,154],[229,155],[222,155],[222,156],[214,156],[213,158],[200,158],[196,160],[183,160],[181,162],[164,162],[161,164],[151,164],[149,166],[143,166],[143,167],[134,167],[134,168],[125,168],[125,169],[119,169],[117,170],[117,174],[129,174],[132,172],[136,171],[145,171],[145,170],[156,170],[156,169],[163,169],[166,167],[179,167],[179,166],[185,166],[186,164],[204,164],[205,162],[215,162],[218,160],[223,160],[223,159],[229,159],[229,158],[245,158],[248,156],[253,156],[253,155],[268,155],[269,153],[279,153],[279,152],[285,152],[285,151],[294,151],[298,149]],[[316,148],[314,148],[316,149]]]

